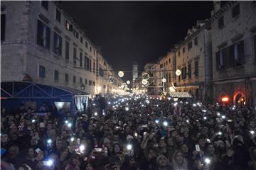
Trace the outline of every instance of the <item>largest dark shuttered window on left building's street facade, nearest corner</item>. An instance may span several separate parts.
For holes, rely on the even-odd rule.
[[[50,28],[38,20],[37,43],[50,49]]]

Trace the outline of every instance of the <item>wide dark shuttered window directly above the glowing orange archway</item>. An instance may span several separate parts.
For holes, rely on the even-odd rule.
[[[243,40],[229,47],[228,67],[238,67],[245,64],[245,52]]]

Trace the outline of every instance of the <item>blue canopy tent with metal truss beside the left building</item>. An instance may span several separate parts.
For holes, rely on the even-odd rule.
[[[9,113],[17,110],[21,103],[34,103],[36,111],[46,102],[48,106],[55,103],[70,103],[70,113],[83,111],[83,103],[89,95],[83,91],[66,87],[48,86],[33,82],[1,82],[1,107]]]

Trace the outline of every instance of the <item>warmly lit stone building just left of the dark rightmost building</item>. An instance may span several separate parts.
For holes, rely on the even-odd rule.
[[[212,51],[210,21],[197,21],[188,30],[185,40],[174,47],[176,91],[186,91],[201,101],[212,100]],[[175,73],[176,71],[174,71]]]

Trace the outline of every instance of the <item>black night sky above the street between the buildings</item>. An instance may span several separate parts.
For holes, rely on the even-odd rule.
[[[62,1],[114,70],[142,70],[183,40],[196,20],[210,17],[213,1]],[[126,74],[124,79],[132,79]]]

